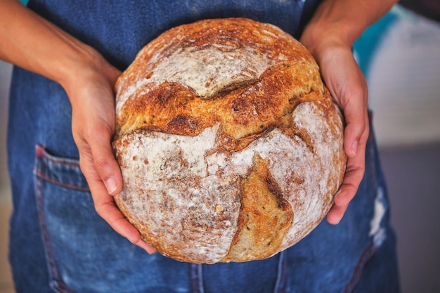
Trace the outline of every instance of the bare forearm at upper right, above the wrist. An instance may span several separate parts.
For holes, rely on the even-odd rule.
[[[363,31],[387,13],[396,2],[325,0],[306,26],[301,41],[311,51],[326,37],[337,38],[345,46],[352,46]]]

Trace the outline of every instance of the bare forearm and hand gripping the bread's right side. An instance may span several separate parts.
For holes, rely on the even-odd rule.
[[[347,126],[344,150],[347,169],[327,221],[339,223],[356,194],[365,172],[368,140],[368,90],[351,53],[363,31],[382,17],[396,0],[325,0],[306,25],[300,41],[321,67],[325,84],[344,112]]]

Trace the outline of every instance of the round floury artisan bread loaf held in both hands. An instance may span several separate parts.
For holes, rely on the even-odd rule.
[[[344,122],[310,53],[273,25],[164,32],[119,77],[113,146],[124,216],[179,261],[266,259],[332,206]]]

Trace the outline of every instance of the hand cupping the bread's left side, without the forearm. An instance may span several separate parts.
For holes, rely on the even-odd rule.
[[[121,172],[110,145],[115,126],[112,89],[121,72],[100,55],[93,61],[84,65],[81,73],[75,72],[72,84],[65,86],[72,103],[72,132],[79,164],[98,214],[117,233],[151,254],[155,249],[141,240],[138,230],[124,218],[112,197],[122,190]]]

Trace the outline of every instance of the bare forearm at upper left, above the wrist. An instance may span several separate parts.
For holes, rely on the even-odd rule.
[[[65,87],[99,54],[16,0],[1,1],[0,58]],[[84,66],[87,65],[87,66]],[[81,73],[80,73],[81,72]]]

